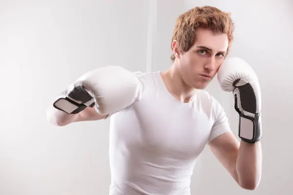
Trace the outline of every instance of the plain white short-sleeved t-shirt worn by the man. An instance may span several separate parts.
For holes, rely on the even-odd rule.
[[[197,156],[230,132],[226,114],[204,90],[183,103],[160,72],[137,76],[141,100],[110,117],[110,195],[190,195]]]

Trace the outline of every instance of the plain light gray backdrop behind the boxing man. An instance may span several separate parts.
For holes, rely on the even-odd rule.
[[[202,5],[232,13],[230,56],[248,61],[259,77],[264,163],[259,188],[246,191],[207,147],[194,169],[192,195],[291,195],[290,0],[0,0],[0,195],[107,195],[109,120],[54,127],[45,109],[97,67],[166,70],[175,20]],[[237,135],[232,95],[216,79],[207,90]]]

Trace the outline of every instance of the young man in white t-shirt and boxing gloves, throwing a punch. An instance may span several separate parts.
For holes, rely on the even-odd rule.
[[[58,126],[110,118],[110,195],[190,195],[206,144],[239,186],[254,190],[262,164],[260,91],[244,60],[225,59],[232,32],[228,13],[190,9],[176,22],[168,70],[98,68],[64,91],[47,118]],[[204,90],[217,72],[223,90],[235,97],[240,142],[219,102]]]

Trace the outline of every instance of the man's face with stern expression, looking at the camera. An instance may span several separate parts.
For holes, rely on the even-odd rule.
[[[178,53],[174,41],[175,64],[184,82],[196,89],[206,88],[223,63],[228,44],[227,34],[215,35],[205,29],[197,30],[193,46],[184,54]]]

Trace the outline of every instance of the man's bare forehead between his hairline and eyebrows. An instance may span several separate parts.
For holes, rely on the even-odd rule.
[[[194,46],[205,46],[215,51],[226,51],[228,48],[227,34],[214,34],[210,30],[197,29]]]

